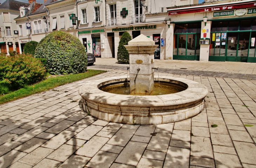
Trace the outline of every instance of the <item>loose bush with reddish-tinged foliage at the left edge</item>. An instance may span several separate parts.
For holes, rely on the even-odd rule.
[[[3,87],[17,90],[45,77],[45,67],[31,55],[0,56],[0,83]]]

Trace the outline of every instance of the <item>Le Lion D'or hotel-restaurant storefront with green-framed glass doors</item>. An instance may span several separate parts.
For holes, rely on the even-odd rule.
[[[173,59],[256,62],[255,0],[170,8],[168,14]],[[200,38],[209,44],[200,44]]]

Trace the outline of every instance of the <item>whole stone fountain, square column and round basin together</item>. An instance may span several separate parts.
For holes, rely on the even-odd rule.
[[[154,76],[153,40],[140,35],[125,46],[129,52],[130,78],[126,76],[95,80],[82,85],[79,94],[83,109],[102,120],[125,124],[163,124],[195,116],[203,109],[208,93],[206,86],[192,80]],[[154,90],[154,78],[184,87],[173,94],[150,96]],[[104,92],[99,88],[116,83],[130,82],[130,94]]]

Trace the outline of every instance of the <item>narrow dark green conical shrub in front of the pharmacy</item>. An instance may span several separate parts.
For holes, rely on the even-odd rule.
[[[125,64],[129,64],[129,53],[124,45],[128,45],[128,41],[132,40],[132,37],[128,32],[124,32],[117,49],[117,61]]]

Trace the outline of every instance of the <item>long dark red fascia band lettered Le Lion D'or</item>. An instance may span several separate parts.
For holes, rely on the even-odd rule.
[[[234,4],[234,3],[233,3]],[[212,5],[213,6],[213,5]],[[197,12],[214,12],[218,10],[230,10],[230,9],[241,9],[241,8],[249,8],[256,6],[256,1],[254,2],[241,2],[234,5],[216,5],[214,7],[207,8],[206,7],[194,7],[194,8],[186,8],[186,9],[169,9],[168,15],[178,15],[185,13],[197,13]]]

